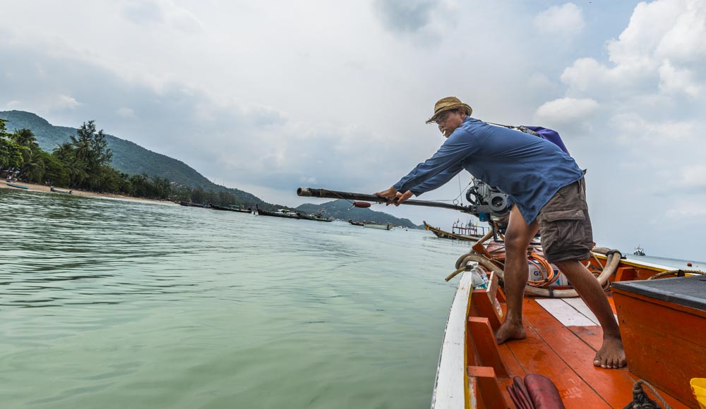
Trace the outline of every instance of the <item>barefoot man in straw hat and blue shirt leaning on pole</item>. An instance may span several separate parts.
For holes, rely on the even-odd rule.
[[[446,138],[436,154],[418,164],[391,188],[376,193],[399,205],[441,187],[462,169],[510,195],[505,231],[505,296],[508,315],[496,332],[498,343],[526,338],[522,297],[527,286],[527,247],[540,231],[549,262],[558,267],[603,327],[603,346],[594,365],[626,365],[618,323],[603,289],[581,264],[593,248],[583,171],[572,157],[548,140],[492,126],[471,117],[472,109],[456,97],[438,100],[433,116]],[[395,201],[396,200],[396,201]]]

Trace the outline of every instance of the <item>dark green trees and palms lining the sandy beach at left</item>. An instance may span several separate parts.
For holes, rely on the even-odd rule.
[[[32,130],[8,133],[5,120],[0,118],[0,171],[21,181],[150,199],[240,204],[228,192],[180,186],[146,173],[128,175],[117,171],[110,166],[112,156],[105,134],[96,130],[95,121],[84,122],[76,135],[70,135],[68,141],[49,153],[37,144]]]

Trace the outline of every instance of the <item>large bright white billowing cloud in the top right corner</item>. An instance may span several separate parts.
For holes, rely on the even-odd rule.
[[[567,94],[699,94],[706,75],[706,3],[657,0],[635,6],[628,27],[607,44],[612,66],[576,60],[561,75]]]

